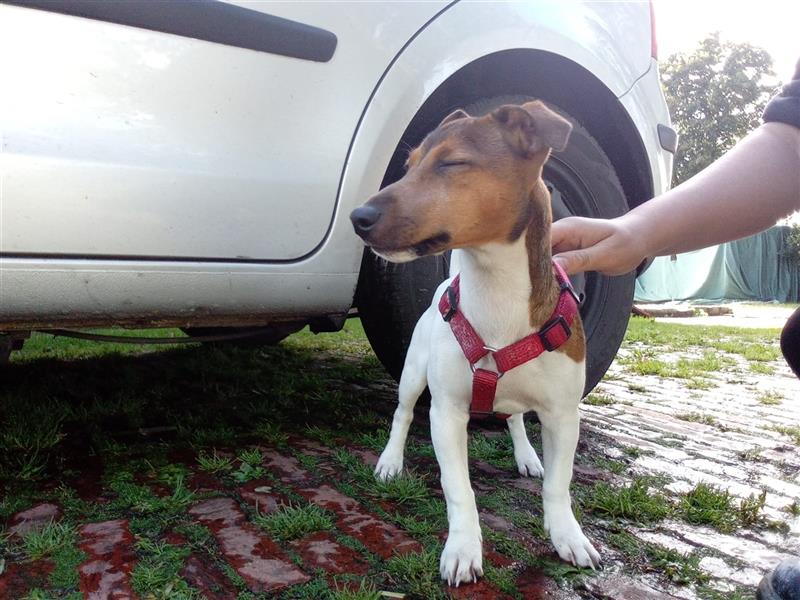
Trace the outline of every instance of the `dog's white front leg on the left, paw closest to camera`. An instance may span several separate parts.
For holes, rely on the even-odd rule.
[[[458,586],[483,575],[481,527],[467,466],[469,414],[449,401],[431,404],[431,439],[449,524],[439,571],[448,584]]]

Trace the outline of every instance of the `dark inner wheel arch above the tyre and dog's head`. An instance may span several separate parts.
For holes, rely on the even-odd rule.
[[[481,98],[503,95],[539,98],[577,119],[614,165],[629,208],[653,196],[653,177],[644,143],[620,101],[579,64],[551,52],[527,48],[488,54],[463,66],[437,87],[406,127],[381,187],[402,176],[408,149],[417,146],[444,116]]]

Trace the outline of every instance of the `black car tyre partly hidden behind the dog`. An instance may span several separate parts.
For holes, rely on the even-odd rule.
[[[473,116],[481,115],[503,104],[530,99],[500,96],[475,102],[465,110]],[[625,213],[628,203],[611,161],[585,128],[564,111],[559,112],[572,122],[573,131],[567,148],[554,153],[544,167],[553,218],[610,218]],[[394,264],[369,250],[364,253],[356,295],[358,311],[375,354],[396,380],[414,326],[447,276],[447,256]],[[622,343],[633,305],[634,279],[633,273],[607,277],[591,272],[573,277],[576,291],[584,298],[581,317],[588,345],[584,393],[597,385]]]

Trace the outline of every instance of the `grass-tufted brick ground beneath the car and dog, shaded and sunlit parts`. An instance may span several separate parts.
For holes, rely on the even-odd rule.
[[[735,600],[800,554],[800,381],[775,329],[632,321],[573,483],[602,571],[558,560],[541,482],[502,428],[471,429],[486,575],[458,589],[423,407],[409,472],[372,477],[396,386],[358,323],[266,349],[48,340],[0,389],[3,599]]]

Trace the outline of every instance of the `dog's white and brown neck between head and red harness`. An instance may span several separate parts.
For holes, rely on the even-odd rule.
[[[539,329],[558,301],[549,195],[542,202],[542,193],[547,190],[539,180],[531,192],[531,221],[519,238],[461,250],[462,309],[490,346],[512,343]]]

